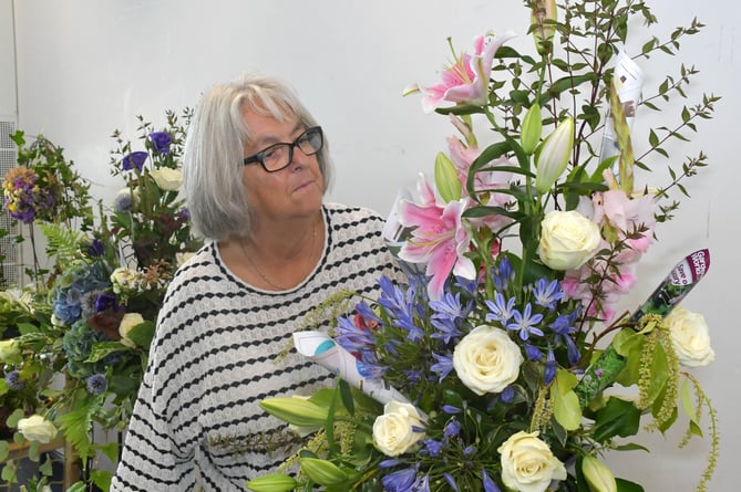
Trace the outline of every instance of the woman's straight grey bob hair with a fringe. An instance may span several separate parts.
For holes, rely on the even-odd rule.
[[[258,74],[208,90],[196,108],[183,156],[183,190],[195,231],[220,241],[250,231],[249,197],[243,182],[244,151],[253,138],[245,109],[279,122],[295,115],[306,127],[317,122],[278,80]],[[317,154],[323,189],[331,182],[327,139]]]

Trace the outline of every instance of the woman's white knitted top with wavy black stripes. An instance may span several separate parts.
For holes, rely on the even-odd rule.
[[[159,312],[112,491],[244,491],[247,481],[276,471],[300,447],[284,422],[258,406],[268,397],[331,386],[327,369],[295,349],[281,355],[292,333],[338,290],[375,295],[381,275],[398,275],[381,237],[382,218],[337,203],[323,206],[323,218],[321,260],[291,290],[248,285],[225,266],[215,243],[178,270]]]

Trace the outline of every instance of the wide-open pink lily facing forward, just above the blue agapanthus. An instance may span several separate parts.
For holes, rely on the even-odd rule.
[[[422,203],[404,201],[400,208],[400,222],[414,228],[412,238],[401,248],[399,258],[412,263],[426,263],[430,299],[439,300],[451,272],[469,280],[476,278],[473,262],[465,257],[470,249],[471,233],[463,224],[466,200],[440,205],[434,191],[420,180]]]

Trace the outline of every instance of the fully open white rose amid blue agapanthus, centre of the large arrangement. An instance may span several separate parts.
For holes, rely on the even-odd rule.
[[[502,392],[517,379],[523,355],[504,329],[481,325],[455,346],[453,367],[476,395]]]

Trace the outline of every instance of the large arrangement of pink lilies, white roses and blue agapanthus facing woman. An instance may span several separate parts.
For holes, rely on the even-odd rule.
[[[662,432],[687,422],[685,444],[703,436],[707,411],[711,449],[697,485],[707,490],[716,412],[688,368],[714,353],[702,315],[677,304],[707,271],[708,251],[688,255],[634,313],[619,312],[658,224],[679,205],[665,203],[707,158],[669,168],[658,188],[638,185],[641,172],[718,101],[703,95],[644,140],[631,121],[671,107],[697,72],[682,66],[641,100],[641,81],[625,71],[675,54],[702,24],[651,38],[631,59],[628,20],[657,21],[645,2],[525,6],[536,55],[508,46],[510,34],[482,35],[472,54],[454,54],[441,83],[408,91],[457,130],[434,179],[422,177],[419,196],[390,218],[409,283],[382,279],[378,299],[329,302],[351,314],[309,354],[335,350],[338,386],[263,401],[313,433],[285,474],[248,489],[642,491],[604,454],[645,450],[631,441],[641,422]],[[481,119],[495,136],[484,148]]]

